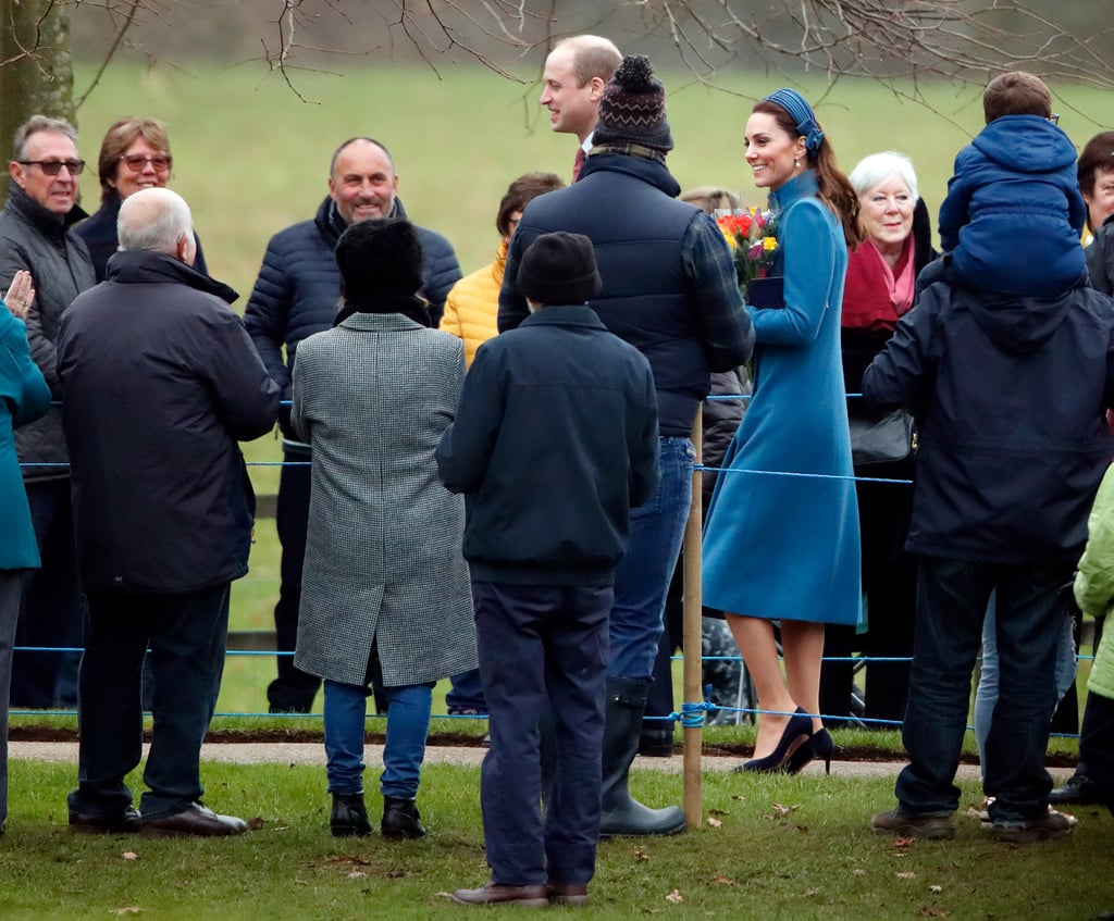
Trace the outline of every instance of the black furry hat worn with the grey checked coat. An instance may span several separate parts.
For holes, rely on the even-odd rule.
[[[421,243],[404,217],[358,221],[336,242],[341,291],[348,302],[417,294]]]

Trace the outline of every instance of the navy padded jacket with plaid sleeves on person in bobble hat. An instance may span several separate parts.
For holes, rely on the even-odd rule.
[[[604,287],[589,306],[615,335],[649,361],[657,386],[662,435],[687,437],[707,395],[711,371],[745,362],[754,332],[743,310],[734,264],[711,218],[675,196],[680,186],[662,164],[623,154],[593,154],[575,185],[530,202],[510,238],[499,329],[527,315],[515,280],[522,252],[539,235],[587,236]],[[697,228],[697,222],[709,226]],[[696,265],[686,245],[701,232],[715,237],[717,263]]]

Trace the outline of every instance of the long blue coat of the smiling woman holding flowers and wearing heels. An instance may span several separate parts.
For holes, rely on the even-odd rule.
[[[704,528],[704,604],[768,619],[854,624],[859,510],[840,364],[847,244],[803,173],[771,195],[781,308],[747,305],[754,392]],[[803,476],[780,476],[790,472]]]

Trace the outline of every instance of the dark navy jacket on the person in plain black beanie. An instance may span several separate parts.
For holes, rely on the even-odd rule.
[[[657,486],[654,379],[586,306],[547,306],[483,343],[437,466],[468,493],[472,579],[610,585],[628,511]]]

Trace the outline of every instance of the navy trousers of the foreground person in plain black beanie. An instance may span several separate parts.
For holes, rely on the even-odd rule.
[[[586,884],[599,839],[610,586],[473,582],[491,747],[480,772],[491,879]],[[551,709],[557,774],[541,811],[539,723]]]

